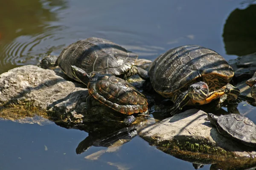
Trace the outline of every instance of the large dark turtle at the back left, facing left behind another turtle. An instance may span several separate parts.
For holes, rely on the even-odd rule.
[[[41,68],[52,68],[59,66],[61,70],[70,78],[73,77],[70,70],[71,65],[86,71],[90,76],[93,74],[113,74],[126,79],[133,74],[145,77],[147,72],[140,67],[141,63],[151,62],[147,59],[138,59],[138,55],[127,51],[125,48],[102,38],[90,37],[79,40],[68,45],[57,56],[49,55],[41,60]]]

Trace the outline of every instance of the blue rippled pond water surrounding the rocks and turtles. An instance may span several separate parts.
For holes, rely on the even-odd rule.
[[[254,0],[2,0],[0,73],[20,65],[36,65],[47,54],[58,55],[65,46],[88,37],[111,40],[151,60],[186,44],[202,45],[227,60],[234,59],[256,52],[253,3]],[[234,13],[244,9],[255,12]],[[234,17],[229,18],[232,13]],[[243,107],[244,104],[239,105],[242,111]],[[247,112],[256,122],[255,109]],[[84,157],[105,148],[91,147],[77,155],[76,147],[86,136],[84,131],[55,124],[0,121],[0,169],[194,169],[191,163],[151,147],[138,136],[118,151],[90,161]],[[209,165],[202,169],[209,169]]]

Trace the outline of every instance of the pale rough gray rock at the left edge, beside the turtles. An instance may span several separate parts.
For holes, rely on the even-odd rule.
[[[76,82],[65,80],[55,71],[26,65],[0,75],[0,106],[25,105],[30,109],[47,111],[57,119],[79,122],[83,116],[75,107],[86,89]]]

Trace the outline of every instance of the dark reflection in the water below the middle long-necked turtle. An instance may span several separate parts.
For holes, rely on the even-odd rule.
[[[136,125],[125,125],[118,122],[105,122],[105,123],[81,123],[79,125],[67,125],[61,122],[55,122],[56,125],[67,129],[78,129],[88,133],[88,136],[79,143],[76,148],[76,153],[84,153],[91,146],[95,147],[116,147],[131,141],[132,138],[137,136]]]

